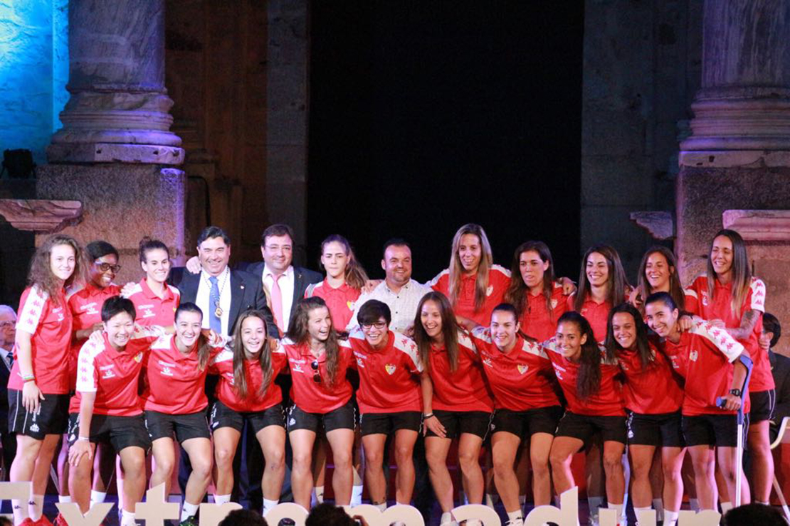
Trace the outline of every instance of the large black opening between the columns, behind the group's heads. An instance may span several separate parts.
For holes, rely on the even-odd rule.
[[[583,2],[312,2],[308,265],[342,233],[371,277],[389,237],[414,277],[465,222],[495,262],[579,253]]]

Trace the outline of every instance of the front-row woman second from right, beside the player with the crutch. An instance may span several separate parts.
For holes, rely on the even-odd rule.
[[[650,509],[650,471],[657,451],[664,473],[664,524],[675,526],[683,498],[683,389],[668,358],[648,339],[648,328],[633,305],[624,303],[611,309],[604,345],[608,361],[616,361],[625,378],[634,510],[639,516]]]

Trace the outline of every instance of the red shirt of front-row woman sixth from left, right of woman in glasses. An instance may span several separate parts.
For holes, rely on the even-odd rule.
[[[440,411],[494,411],[494,399],[485,378],[477,349],[465,331],[458,331],[458,365],[450,371],[444,345],[428,353],[434,385],[432,408]]]

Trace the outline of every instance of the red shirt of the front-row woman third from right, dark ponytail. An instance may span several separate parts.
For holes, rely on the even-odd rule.
[[[623,409],[623,393],[620,382],[615,377],[620,368],[617,361],[606,360],[606,351],[600,347],[600,387],[598,392],[581,400],[578,396],[577,379],[581,364],[576,364],[562,356],[555,338],[544,341],[544,349],[554,366],[554,373],[562,387],[568,402],[568,410],[577,415],[589,416],[625,416]]]

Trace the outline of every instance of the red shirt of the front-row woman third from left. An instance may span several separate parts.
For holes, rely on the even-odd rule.
[[[263,369],[258,360],[244,360],[244,378],[246,379],[246,397],[240,397],[233,383],[233,352],[225,349],[217,354],[209,366],[209,374],[220,375],[216,384],[216,398],[235,412],[264,411],[283,401],[283,391],[276,385],[274,379],[288,364],[285,351],[278,347],[272,351],[272,378],[269,386],[261,395],[263,385]]]

